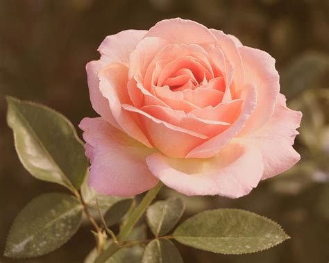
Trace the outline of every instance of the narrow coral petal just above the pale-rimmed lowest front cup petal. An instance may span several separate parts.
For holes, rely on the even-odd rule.
[[[192,130],[208,137],[213,137],[230,126],[230,124],[223,121],[199,119],[192,114],[187,116],[182,110],[172,110],[161,106],[145,106],[141,110],[156,119],[166,121],[168,124]]]

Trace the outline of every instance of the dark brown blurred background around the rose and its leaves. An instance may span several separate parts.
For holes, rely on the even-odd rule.
[[[302,159],[296,167],[243,198],[185,197],[185,217],[214,207],[239,207],[277,221],[292,239],[238,256],[178,245],[185,262],[328,262],[328,0],[0,0],[0,253],[19,210],[43,192],[62,191],[36,180],[19,163],[4,96],[49,105],[77,126],[83,117],[96,116],[85,64],[99,58],[96,49],[103,38],[128,28],[148,29],[170,17],[196,20],[269,52],[289,106],[303,111],[295,144]],[[160,198],[173,194],[165,189]],[[83,262],[94,246],[89,229],[83,225],[49,255],[16,261],[0,256],[0,262]]]

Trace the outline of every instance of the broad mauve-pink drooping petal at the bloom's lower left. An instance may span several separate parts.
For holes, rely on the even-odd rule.
[[[113,128],[101,117],[85,118],[79,127],[87,142],[90,158],[90,185],[101,194],[133,196],[152,188],[158,179],[147,168],[152,153],[139,142]]]

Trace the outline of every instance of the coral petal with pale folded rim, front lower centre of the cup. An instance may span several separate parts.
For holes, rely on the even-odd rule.
[[[125,110],[135,112],[139,115],[148,133],[150,142],[155,148],[167,156],[184,158],[189,151],[202,142],[205,142],[205,139],[208,139],[203,134],[156,119],[131,105],[125,104],[123,107]],[[181,142],[184,143],[182,144]]]

